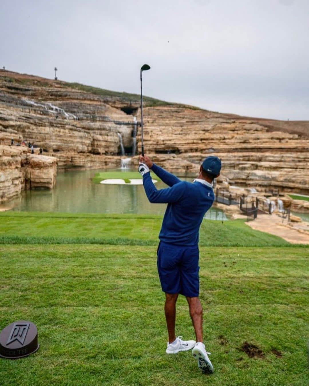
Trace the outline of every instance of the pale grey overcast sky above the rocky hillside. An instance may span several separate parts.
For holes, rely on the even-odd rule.
[[[308,0],[1,0],[0,68],[309,119]]]

